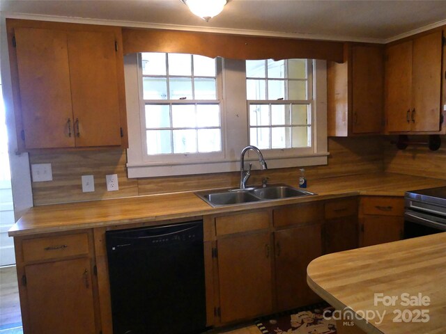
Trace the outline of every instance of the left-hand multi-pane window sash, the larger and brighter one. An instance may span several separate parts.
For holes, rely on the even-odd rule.
[[[222,152],[218,60],[191,54],[143,53],[139,61],[147,158],[165,161],[181,159],[178,154]]]

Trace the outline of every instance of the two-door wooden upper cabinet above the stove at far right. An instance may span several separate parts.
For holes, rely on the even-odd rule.
[[[442,31],[387,47],[387,133],[440,131],[442,56]]]

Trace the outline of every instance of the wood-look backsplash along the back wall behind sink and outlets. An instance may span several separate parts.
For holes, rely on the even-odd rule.
[[[305,168],[309,184],[316,178],[383,171],[382,137],[329,138],[328,150],[328,165]],[[32,152],[29,158],[31,164],[51,163],[53,172],[53,181],[32,183],[34,205],[236,187],[240,180],[238,172],[128,179],[123,150]],[[115,173],[119,190],[107,191],[105,175]],[[269,177],[270,183],[297,186],[299,174],[298,168],[253,170],[248,184],[261,184]],[[95,177],[94,193],[82,193],[81,175]]]

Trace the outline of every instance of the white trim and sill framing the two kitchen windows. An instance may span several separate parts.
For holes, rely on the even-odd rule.
[[[171,175],[194,175],[223,173],[240,170],[240,152],[248,145],[247,100],[245,61],[223,60],[223,92],[220,97],[222,113],[222,155],[217,158],[189,157],[187,161],[144,161],[144,142],[141,135],[141,101],[137,55],[124,57],[125,94],[128,116],[128,177],[161,177]],[[264,150],[268,168],[316,166],[327,164],[327,79],[326,62],[314,61],[313,66],[313,129],[312,152],[295,154],[288,149]],[[292,151],[292,150],[291,150]],[[259,169],[255,154],[248,155],[246,163],[252,162]]]

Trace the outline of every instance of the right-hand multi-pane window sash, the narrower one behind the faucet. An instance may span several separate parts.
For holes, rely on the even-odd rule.
[[[312,64],[309,59],[246,61],[250,145],[311,148]]]

